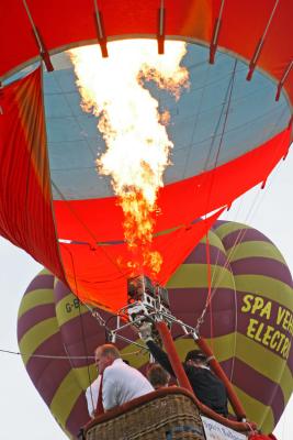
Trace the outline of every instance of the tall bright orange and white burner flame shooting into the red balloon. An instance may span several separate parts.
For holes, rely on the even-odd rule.
[[[127,266],[134,272],[142,266],[153,275],[160,271],[161,255],[150,248],[158,189],[173,147],[166,130],[170,114],[159,112],[145,84],[154,81],[178,100],[182,88],[189,87],[188,70],[180,66],[185,52],[185,43],[166,42],[165,55],[158,55],[151,40],[109,43],[109,58],[102,58],[97,46],[69,51],[81,107],[99,117],[106,151],[97,167],[112,178],[133,253]]]

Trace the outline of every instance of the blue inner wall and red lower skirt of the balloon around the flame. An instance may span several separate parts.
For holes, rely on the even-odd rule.
[[[162,256],[160,284],[168,282],[223,207],[266,180],[289,146],[291,110],[285,97],[275,102],[273,84],[260,73],[255,82],[245,81],[243,62],[230,55],[221,54],[215,66],[204,63],[206,55],[206,48],[188,45],[182,64],[190,72],[190,90],[178,102],[153,84],[145,86],[160,111],[169,111],[167,130],[174,144],[154,219],[151,251]],[[8,157],[3,151],[8,193],[0,230],[79,297],[116,311],[126,304],[126,278],[132,275],[126,263],[134,255],[124,241],[123,213],[109,177],[97,175],[95,154],[105,150],[97,118],[80,108],[69,61],[59,58],[56,66],[59,69],[46,74],[43,84],[35,70],[4,89],[4,141],[14,153]],[[22,123],[15,125],[19,120]],[[10,134],[15,131],[18,141]],[[29,141],[26,132],[32,133]],[[19,162],[29,175],[15,170],[15,178],[11,169]],[[29,197],[34,221],[27,223],[27,209],[15,209],[21,233],[14,226],[14,209],[7,204],[10,193],[16,206]],[[146,274],[148,270],[140,266]]]

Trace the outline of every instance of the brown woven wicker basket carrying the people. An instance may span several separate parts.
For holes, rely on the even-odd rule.
[[[194,402],[181,394],[161,396],[99,422],[87,440],[204,440]]]

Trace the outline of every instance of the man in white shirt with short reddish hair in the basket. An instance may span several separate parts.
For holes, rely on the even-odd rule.
[[[102,403],[104,410],[154,391],[148,380],[139,371],[123,362],[119,350],[114,345],[104,344],[98,346],[94,358],[99,375],[103,375]],[[98,377],[94,385],[95,391],[91,394],[94,407],[98,402],[100,381]],[[89,408],[91,407],[92,405],[89,406]]]

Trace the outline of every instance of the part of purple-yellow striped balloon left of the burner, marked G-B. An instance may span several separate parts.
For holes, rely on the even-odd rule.
[[[99,310],[105,321],[111,315]],[[131,331],[123,336],[135,339]],[[68,287],[43,270],[29,285],[19,309],[18,340],[22,359],[36,389],[69,438],[89,421],[84,391],[97,377],[94,349],[105,342],[99,326]],[[146,352],[120,342],[133,366],[147,362]],[[138,355],[139,354],[139,355]]]

